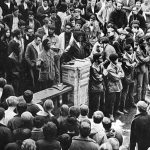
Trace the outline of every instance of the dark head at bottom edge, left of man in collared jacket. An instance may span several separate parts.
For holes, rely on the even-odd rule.
[[[69,134],[64,133],[59,136],[58,140],[60,141],[60,145],[62,147],[62,150],[68,150],[71,145],[71,137]]]

